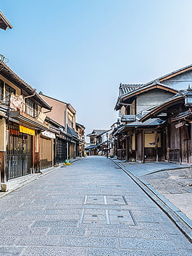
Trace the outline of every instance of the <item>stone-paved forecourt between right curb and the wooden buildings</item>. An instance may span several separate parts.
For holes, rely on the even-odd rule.
[[[139,179],[147,181],[192,220],[191,167],[164,162],[121,164]]]

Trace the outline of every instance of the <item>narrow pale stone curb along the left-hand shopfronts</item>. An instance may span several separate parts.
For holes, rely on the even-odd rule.
[[[79,159],[74,159],[74,161],[72,161],[72,163],[74,163],[74,162],[76,162],[76,161],[79,161],[79,160],[81,160],[81,158],[79,158]],[[66,167],[67,167],[67,166],[66,166]],[[27,185],[27,184],[29,184],[30,182],[34,181],[34,180],[40,179],[40,178],[43,177],[44,175],[47,175],[47,174],[49,174],[49,173],[51,173],[51,172],[54,172],[54,171],[58,170],[59,168],[62,168],[61,164],[60,164],[60,166],[57,166],[57,167],[55,167],[55,168],[52,168],[51,170],[49,170],[50,168],[48,168],[48,169],[41,170],[40,173],[34,173],[33,177],[31,177],[31,178],[29,178],[29,179],[26,179],[26,181],[20,183],[18,186],[15,186],[14,188],[10,189],[9,191],[2,192],[2,194],[0,195],[0,199],[3,198],[3,197],[6,196],[6,195],[12,193],[12,192],[15,191],[16,189],[19,189],[19,188],[21,188],[22,186]],[[26,178],[27,178],[27,177],[26,177]],[[0,193],[1,193],[1,191],[0,191]]]

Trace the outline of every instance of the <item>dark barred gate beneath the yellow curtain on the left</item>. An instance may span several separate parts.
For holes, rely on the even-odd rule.
[[[8,179],[31,173],[33,166],[33,136],[19,132],[19,126],[9,127]]]

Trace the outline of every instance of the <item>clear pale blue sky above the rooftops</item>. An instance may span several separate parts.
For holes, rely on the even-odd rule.
[[[38,92],[70,102],[77,122],[109,129],[120,83],[191,64],[191,0],[1,0],[13,29],[8,65]]]

